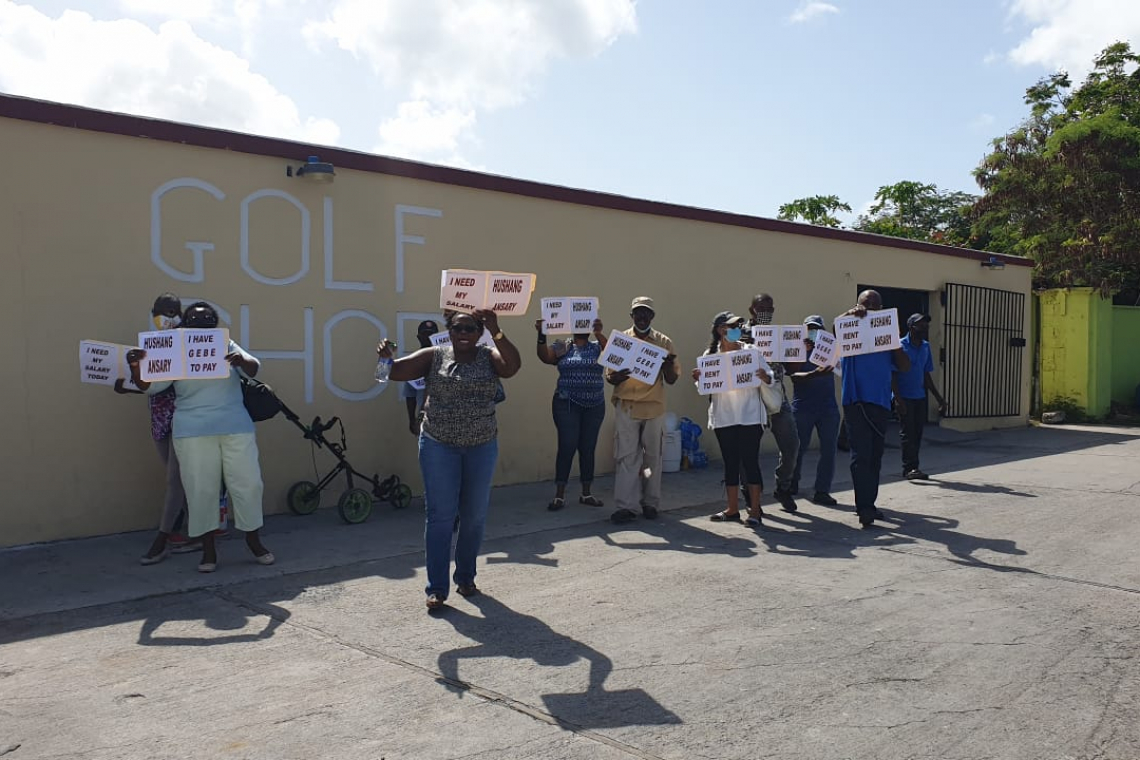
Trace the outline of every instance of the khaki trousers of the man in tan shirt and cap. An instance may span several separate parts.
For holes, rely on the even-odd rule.
[[[661,442],[665,415],[634,419],[619,404],[613,420],[613,501],[618,509],[661,504]],[[642,471],[651,474],[642,479]]]

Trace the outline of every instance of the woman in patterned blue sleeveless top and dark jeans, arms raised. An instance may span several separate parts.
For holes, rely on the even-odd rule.
[[[554,459],[554,499],[546,505],[551,512],[565,506],[567,481],[573,455],[578,453],[578,482],[581,484],[580,504],[601,507],[602,500],[591,493],[594,484],[594,449],[597,433],[605,420],[605,379],[598,357],[605,350],[602,320],[595,319],[589,333],[578,333],[571,341],[546,344],[543,320],[535,321],[538,330],[538,359],[559,368],[559,384],[551,401],[554,427],[559,431],[559,452]]]

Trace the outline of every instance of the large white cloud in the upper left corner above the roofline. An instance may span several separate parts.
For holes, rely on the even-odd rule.
[[[186,21],[155,31],[73,10],[51,18],[0,0],[0,90],[319,144],[340,138],[335,122],[302,120],[247,60],[197,36]]]

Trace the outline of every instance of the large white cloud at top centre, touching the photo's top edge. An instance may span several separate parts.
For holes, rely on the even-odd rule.
[[[635,0],[333,0],[306,36],[335,42],[400,93],[378,150],[451,162],[479,112],[523,103],[554,62],[596,56],[636,28]]]

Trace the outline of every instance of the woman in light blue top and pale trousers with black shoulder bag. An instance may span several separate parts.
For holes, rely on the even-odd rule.
[[[182,327],[215,329],[218,312],[205,302],[187,308]],[[197,349],[195,349],[197,351]],[[233,341],[222,359],[229,365],[229,376],[222,379],[178,379],[148,383],[142,379],[140,362],[147,352],[135,349],[127,354],[131,381],[150,395],[174,389],[172,435],[174,452],[182,471],[182,487],[189,509],[189,534],[202,537],[202,562],[198,571],[218,569],[214,530],[218,528],[218,493],[222,485],[229,492],[234,524],[245,532],[245,545],[259,564],[274,564],[274,555],[261,544],[261,465],[253,420],[242,400],[242,381],[258,374],[261,362]],[[212,361],[214,357],[194,357]]]

